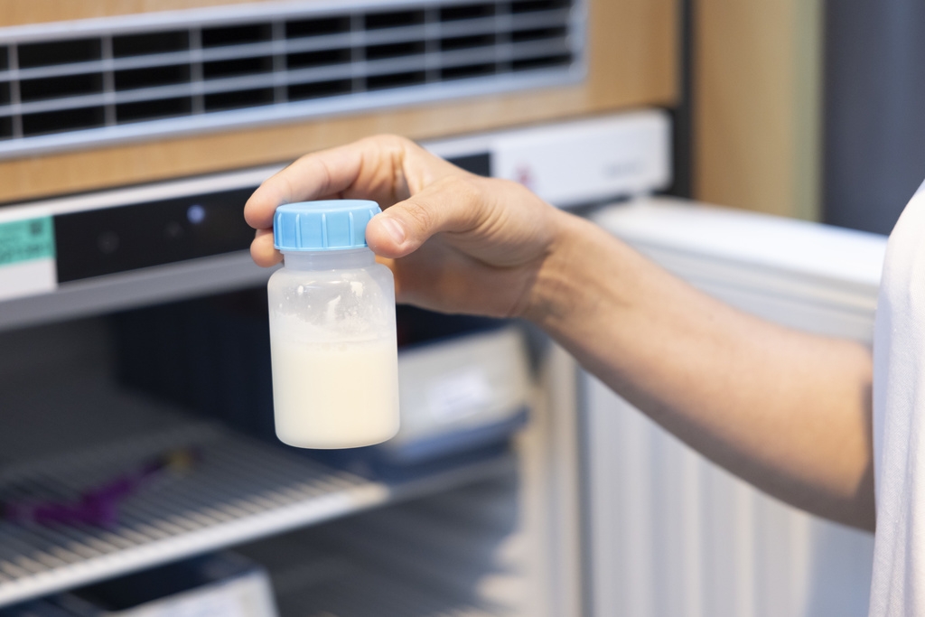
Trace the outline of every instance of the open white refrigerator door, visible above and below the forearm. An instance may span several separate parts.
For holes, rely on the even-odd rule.
[[[595,220],[740,309],[870,341],[880,236],[658,198]],[[595,378],[583,386],[592,614],[867,614],[870,534],[771,499]]]

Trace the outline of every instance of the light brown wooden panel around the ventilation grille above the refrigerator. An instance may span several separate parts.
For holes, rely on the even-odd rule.
[[[377,132],[425,139],[617,108],[672,105],[675,1],[593,0],[589,5],[589,73],[580,85],[7,160],[0,162],[0,202],[288,161]]]

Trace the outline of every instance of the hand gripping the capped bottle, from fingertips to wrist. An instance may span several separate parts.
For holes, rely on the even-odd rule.
[[[417,144],[371,137],[302,156],[254,191],[244,217],[253,260],[273,265],[277,206],[370,199],[366,241],[395,275],[398,302],[447,313],[519,316],[568,216],[520,184],[463,171]]]

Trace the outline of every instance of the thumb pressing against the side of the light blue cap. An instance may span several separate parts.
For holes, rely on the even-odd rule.
[[[487,216],[479,181],[465,176],[437,180],[411,198],[388,207],[366,225],[366,243],[383,257],[413,253],[441,231],[469,231]]]

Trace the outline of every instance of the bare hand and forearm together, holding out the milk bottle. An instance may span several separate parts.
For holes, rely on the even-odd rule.
[[[251,253],[273,265],[280,204],[375,200],[366,240],[399,302],[520,316],[712,461],[771,495],[874,528],[870,350],[735,311],[524,187],[402,138],[308,154],[253,193]]]

